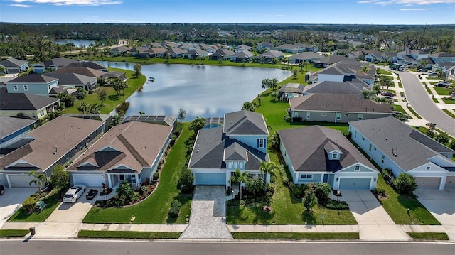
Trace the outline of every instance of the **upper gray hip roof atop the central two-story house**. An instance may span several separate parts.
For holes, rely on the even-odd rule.
[[[225,114],[223,131],[228,135],[269,135],[264,116],[256,112],[238,111]]]

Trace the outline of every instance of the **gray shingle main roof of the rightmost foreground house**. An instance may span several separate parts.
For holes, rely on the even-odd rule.
[[[455,153],[394,117],[349,124],[405,171],[428,163],[429,158],[441,156],[440,153]],[[392,149],[396,157],[392,155]]]

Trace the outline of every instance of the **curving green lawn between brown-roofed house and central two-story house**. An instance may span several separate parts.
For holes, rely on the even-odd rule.
[[[181,168],[186,162],[185,141],[191,135],[188,124],[183,125],[181,136],[166,158],[161,170],[160,183],[154,193],[139,205],[122,208],[93,207],[82,222],[85,223],[133,223],[133,224],[185,224],[191,214],[191,195],[181,195],[177,188]],[[174,199],[182,202],[177,219],[168,218],[168,209]],[[130,222],[132,216],[134,222]]]

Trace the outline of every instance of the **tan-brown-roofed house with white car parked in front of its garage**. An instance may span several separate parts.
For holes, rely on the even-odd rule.
[[[172,126],[139,121],[112,127],[66,169],[71,183],[115,188],[129,180],[138,189],[163,162],[172,131]]]

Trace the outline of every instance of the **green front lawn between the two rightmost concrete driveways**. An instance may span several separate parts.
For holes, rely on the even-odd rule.
[[[378,175],[377,188],[384,189],[387,194],[386,198],[380,200],[382,207],[387,211],[395,224],[425,224],[425,225],[440,225],[428,212],[428,210],[415,198],[400,195],[395,190],[385,183],[382,175]],[[410,209],[410,215],[407,215],[407,208]]]

